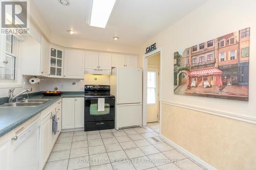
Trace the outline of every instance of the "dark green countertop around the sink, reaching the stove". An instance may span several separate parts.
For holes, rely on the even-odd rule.
[[[24,95],[26,98],[27,95]],[[33,116],[47,109],[61,98],[83,98],[83,91],[63,92],[59,96],[44,96],[40,92],[29,94],[29,99],[50,99],[49,102],[35,107],[0,107],[0,137],[22,125]],[[1,101],[1,100],[0,100]],[[4,101],[4,99],[2,99]]]

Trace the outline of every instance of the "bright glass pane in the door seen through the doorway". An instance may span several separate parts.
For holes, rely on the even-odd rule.
[[[147,104],[156,104],[156,71],[147,71]]]

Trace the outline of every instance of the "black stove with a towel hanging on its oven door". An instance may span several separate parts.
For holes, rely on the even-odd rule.
[[[108,85],[84,86],[84,131],[113,129],[115,126],[115,96]],[[99,103],[98,99],[104,99]],[[102,102],[102,101],[101,101]],[[104,108],[99,110],[99,105]]]

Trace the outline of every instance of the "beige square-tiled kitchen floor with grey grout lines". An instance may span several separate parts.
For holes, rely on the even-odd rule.
[[[160,139],[159,127],[63,132],[45,170],[206,169]]]

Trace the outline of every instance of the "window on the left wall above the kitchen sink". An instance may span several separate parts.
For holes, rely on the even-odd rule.
[[[15,80],[16,57],[18,55],[18,39],[13,35],[1,37],[2,46],[0,64],[0,79]]]

